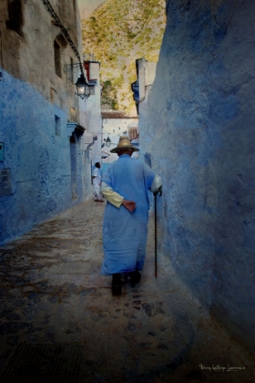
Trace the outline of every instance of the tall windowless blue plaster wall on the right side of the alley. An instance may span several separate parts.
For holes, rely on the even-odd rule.
[[[164,183],[160,251],[254,353],[255,3],[235,4],[167,2],[139,131],[145,160]]]

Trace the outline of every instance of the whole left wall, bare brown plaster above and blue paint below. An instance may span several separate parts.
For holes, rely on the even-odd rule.
[[[81,52],[76,1],[50,3]],[[74,81],[66,70],[71,59],[76,63],[76,54],[41,1],[21,4],[23,23],[17,33],[7,27],[7,2],[0,3],[0,142],[5,144],[5,159],[0,161],[1,244],[91,194],[86,142],[83,136],[70,142],[73,129],[66,126],[87,123],[86,103],[76,97],[73,83],[79,67]]]

